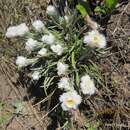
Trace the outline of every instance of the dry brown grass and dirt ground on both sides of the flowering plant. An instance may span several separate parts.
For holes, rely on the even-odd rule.
[[[55,106],[52,109],[47,108],[47,112],[41,111],[41,104],[49,105],[47,101],[51,94],[47,99],[39,98],[41,101],[35,105],[32,105],[35,97],[26,100],[24,104],[28,114],[22,113],[17,116],[13,114],[14,108],[10,105],[16,99],[29,99],[30,94],[28,95],[26,87],[17,81],[18,74],[13,64],[17,55],[24,54],[23,43],[16,39],[7,40],[4,33],[9,25],[21,22],[30,24],[33,19],[44,19],[46,4],[46,0],[0,1],[0,100],[7,105],[7,109],[4,108],[2,112],[9,115],[1,129],[46,130],[48,114],[57,108]],[[81,115],[85,117],[79,115],[82,119],[85,118],[86,122],[95,124],[102,130],[130,129],[130,2],[118,10],[119,13],[112,15],[110,24],[104,29],[108,38],[107,53],[96,63],[104,77],[104,85],[99,86],[95,96],[86,97],[84,105],[81,106]],[[54,122],[56,126],[57,121]],[[58,126],[61,129],[60,125]],[[82,128],[77,126],[77,129]],[[48,127],[48,130],[52,129]]]

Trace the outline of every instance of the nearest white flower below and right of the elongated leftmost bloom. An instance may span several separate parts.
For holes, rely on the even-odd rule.
[[[32,38],[29,38],[25,44],[25,49],[27,51],[32,51],[38,45],[37,41]]]

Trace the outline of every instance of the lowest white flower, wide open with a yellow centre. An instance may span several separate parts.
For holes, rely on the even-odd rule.
[[[63,93],[59,98],[61,107],[64,111],[71,109],[77,109],[78,105],[81,103],[82,98],[77,94],[75,90]]]

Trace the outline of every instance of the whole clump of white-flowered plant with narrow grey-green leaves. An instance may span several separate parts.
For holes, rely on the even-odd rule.
[[[71,112],[78,109],[83,95],[91,96],[98,91],[96,75],[87,71],[88,62],[96,49],[106,47],[106,38],[98,30],[80,34],[75,12],[60,16],[56,8],[49,5],[46,13],[47,21],[35,20],[31,27],[25,23],[11,26],[6,37],[26,39],[28,55],[16,58],[18,69],[28,67],[34,82],[42,78],[43,84],[39,87],[44,87],[46,93],[49,87],[59,89],[63,111]]]

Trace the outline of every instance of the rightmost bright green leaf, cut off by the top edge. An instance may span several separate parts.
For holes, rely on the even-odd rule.
[[[118,0],[105,0],[105,6],[112,11],[116,7],[117,2]]]

